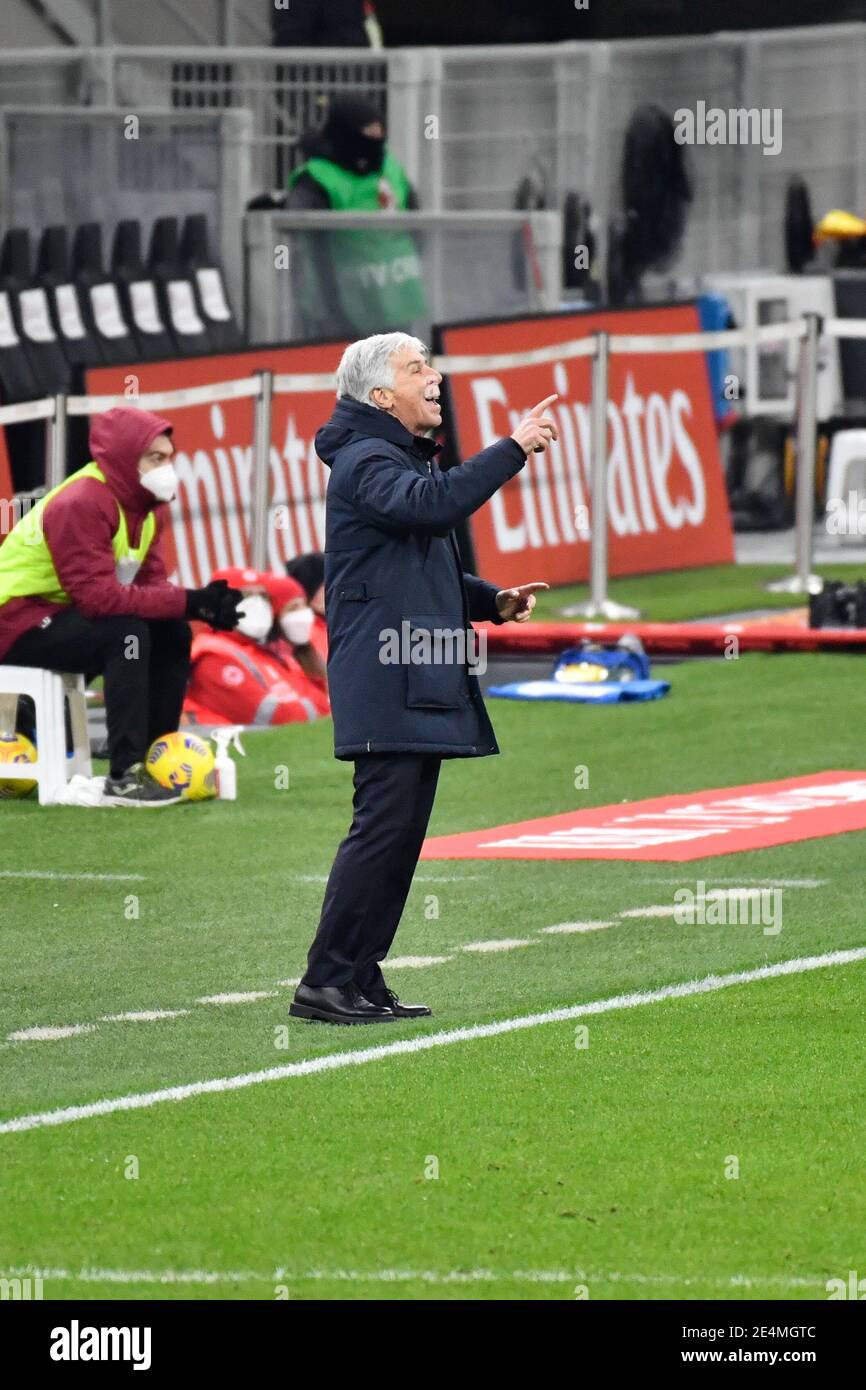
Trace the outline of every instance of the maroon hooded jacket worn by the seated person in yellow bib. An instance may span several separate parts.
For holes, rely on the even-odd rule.
[[[90,453],[106,482],[81,478],[71,482],[43,509],[43,534],[60,582],[85,617],[133,614],[147,619],[179,619],[186,612],[186,591],[170,584],[163,562],[161,534],[165,503],[157,502],[139,482],[138,460],[158,434],[171,434],[160,416],[132,407],[106,410],[90,425]],[[118,503],[138,545],[142,524],[156,510],[157,534],[132,584],[121,584],[114,569],[111,541],[118,527]],[[0,605],[0,660],[13,642],[65,603],[46,603],[39,596],[10,599]]]

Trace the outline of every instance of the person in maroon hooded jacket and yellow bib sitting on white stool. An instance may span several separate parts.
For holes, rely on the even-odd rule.
[[[225,580],[170,584],[161,553],[175,495],[172,425],[146,410],[93,418],[93,461],[25,513],[0,545],[0,662],[101,673],[110,774],[104,801],[165,806],[179,794],[145,769],[174,733],[196,617],[231,630],[242,595]]]

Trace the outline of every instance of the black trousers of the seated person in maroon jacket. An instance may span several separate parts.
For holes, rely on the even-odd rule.
[[[189,680],[189,623],[142,617],[83,617],[68,609],[13,642],[8,666],[101,674],[111,776],[140,763],[154,738],[181,723]]]

